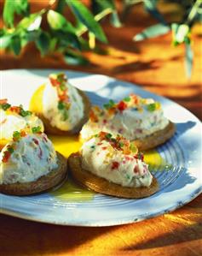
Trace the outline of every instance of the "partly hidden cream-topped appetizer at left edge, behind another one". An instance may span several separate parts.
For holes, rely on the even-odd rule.
[[[15,130],[40,127],[43,122],[31,111],[24,110],[22,105],[12,106],[6,98],[0,99],[0,149],[12,140]]]

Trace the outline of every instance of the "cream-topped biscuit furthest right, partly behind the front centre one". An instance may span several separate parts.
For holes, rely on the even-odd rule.
[[[164,117],[159,102],[131,94],[118,103],[110,100],[103,109],[94,106],[80,138],[87,140],[101,130],[113,135],[122,134],[134,141],[139,150],[147,150],[170,139],[175,133],[175,125]]]

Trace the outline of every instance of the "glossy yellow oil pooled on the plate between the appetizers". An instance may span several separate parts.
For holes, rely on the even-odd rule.
[[[60,152],[66,158],[72,152],[78,152],[82,143],[78,140],[78,136],[49,136],[55,146],[55,150]],[[152,167],[153,170],[164,170],[168,164],[164,161],[155,149],[144,152],[144,161]],[[159,169],[160,167],[160,169]],[[76,182],[73,182],[72,177],[68,175],[66,182],[61,184],[60,188],[54,188],[49,193],[55,196],[56,199],[61,199],[69,202],[83,202],[94,198],[95,193],[83,188]]]

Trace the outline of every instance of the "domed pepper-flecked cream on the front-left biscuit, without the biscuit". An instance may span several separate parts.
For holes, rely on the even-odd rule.
[[[34,182],[57,168],[57,155],[46,134],[14,132],[0,153],[0,184]]]

